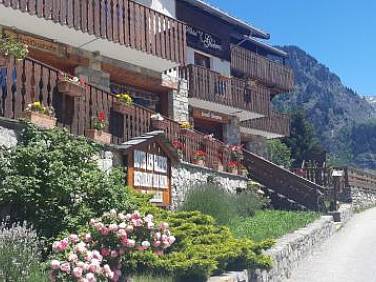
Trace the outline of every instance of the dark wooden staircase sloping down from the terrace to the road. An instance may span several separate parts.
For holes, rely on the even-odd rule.
[[[243,154],[244,164],[248,168],[250,177],[266,186],[273,193],[308,210],[324,211],[326,209],[324,204],[326,188],[247,150],[243,150]]]

